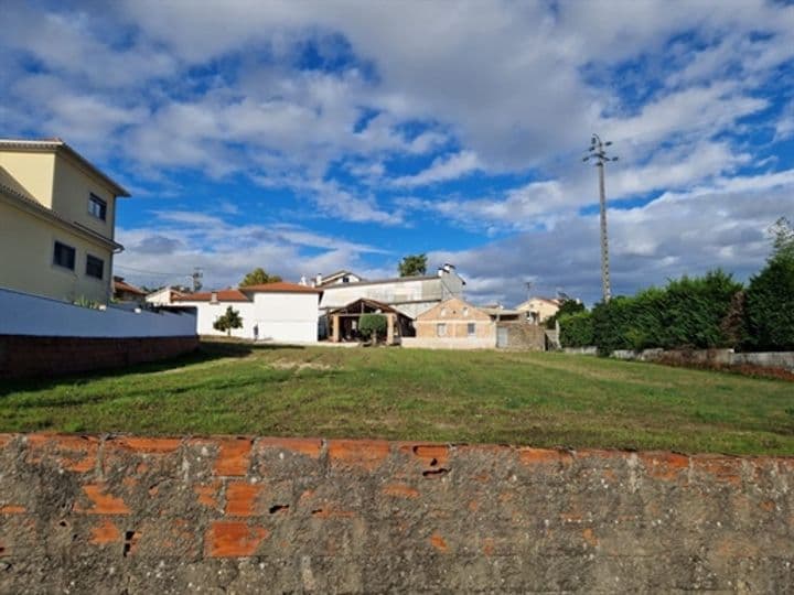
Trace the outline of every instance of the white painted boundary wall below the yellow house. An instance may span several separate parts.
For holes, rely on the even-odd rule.
[[[131,338],[195,334],[192,312],[94,310],[0,288],[0,335]]]

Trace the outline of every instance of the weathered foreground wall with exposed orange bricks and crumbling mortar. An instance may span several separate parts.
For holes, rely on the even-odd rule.
[[[794,589],[794,459],[0,435],[0,593]]]

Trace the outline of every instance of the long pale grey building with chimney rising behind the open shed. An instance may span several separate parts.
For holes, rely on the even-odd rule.
[[[344,279],[347,281],[344,281]],[[329,279],[333,281],[329,282]],[[350,271],[330,278],[319,277],[315,285],[322,289],[320,301],[320,333],[329,333],[328,314],[357,300],[366,299],[394,307],[414,320],[443,300],[463,295],[465,281],[452,264],[439,267],[437,274],[365,280]]]

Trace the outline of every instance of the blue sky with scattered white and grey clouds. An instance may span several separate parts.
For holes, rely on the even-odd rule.
[[[393,275],[475,301],[745,279],[794,218],[794,4],[760,0],[0,0],[0,136],[61,137],[128,187],[147,285]]]

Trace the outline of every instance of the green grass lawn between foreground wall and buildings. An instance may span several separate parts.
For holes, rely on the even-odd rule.
[[[0,431],[39,430],[794,455],[794,385],[564,354],[208,343],[0,385]]]

